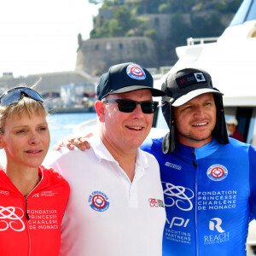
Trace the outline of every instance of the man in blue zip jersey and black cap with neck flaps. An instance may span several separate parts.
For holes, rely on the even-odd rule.
[[[170,73],[162,85],[170,132],[149,140],[166,203],[163,256],[246,255],[255,216],[256,153],[228,138],[222,93],[200,69]]]

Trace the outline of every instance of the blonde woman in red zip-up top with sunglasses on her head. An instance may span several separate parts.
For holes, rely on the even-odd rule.
[[[69,186],[41,166],[49,149],[47,111],[36,90],[0,97],[0,255],[58,255]]]

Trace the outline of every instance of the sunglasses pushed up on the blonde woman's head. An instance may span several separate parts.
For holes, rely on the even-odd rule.
[[[32,98],[35,101],[44,102],[43,98],[38,94],[37,91],[28,87],[15,87],[3,93],[3,95],[0,97],[0,105],[6,107],[14,102],[18,102],[22,95]]]

